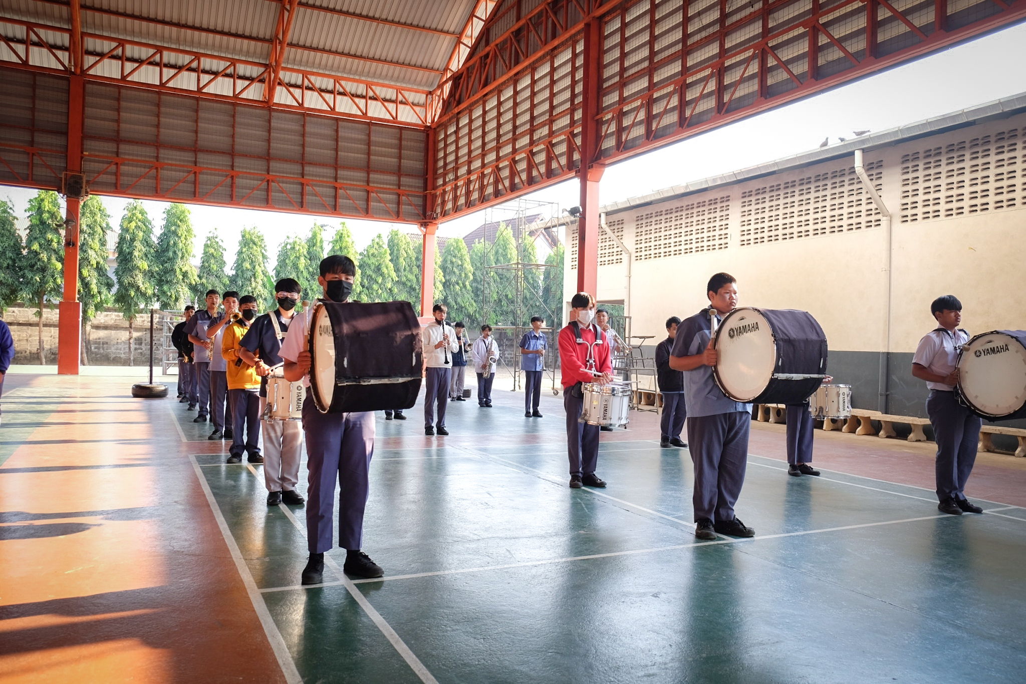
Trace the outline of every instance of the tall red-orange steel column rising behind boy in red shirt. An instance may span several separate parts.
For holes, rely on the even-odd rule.
[[[581,215],[578,218],[578,291],[598,296],[598,182],[605,167],[598,159],[597,121],[599,90],[602,85],[602,24],[592,19],[584,29],[584,78],[581,96],[584,108],[581,120]]]

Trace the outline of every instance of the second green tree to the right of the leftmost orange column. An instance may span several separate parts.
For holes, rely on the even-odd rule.
[[[118,231],[118,265],[114,278],[118,288],[114,291],[114,306],[128,321],[128,365],[133,365],[132,337],[135,316],[140,309],[153,305],[153,257],[157,245],[153,242],[153,222],[143,207],[133,200],[125,207]]]

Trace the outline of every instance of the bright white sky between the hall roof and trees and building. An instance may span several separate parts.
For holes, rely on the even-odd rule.
[[[874,132],[1026,92],[1026,24],[1004,29],[868,78],[807,97],[748,119],[686,138],[606,168],[599,202],[607,204],[819,148],[824,138],[854,137],[855,130]],[[0,199],[24,215],[35,191],[0,186]],[[525,196],[559,209],[579,204],[576,179]],[[105,197],[117,228],[127,199]],[[166,202],[143,202],[159,228]],[[193,205],[196,231],[194,263],[203,241],[216,230],[231,265],[243,228],[259,228],[267,239],[269,268],[278,245],[293,235],[306,235],[316,220],[328,226],[325,242],[339,226],[333,217]],[[439,226],[438,235],[462,237],[480,226],[487,210]],[[495,215],[500,215],[496,210]],[[379,233],[393,228],[417,233],[412,224],[346,219],[358,249]]]

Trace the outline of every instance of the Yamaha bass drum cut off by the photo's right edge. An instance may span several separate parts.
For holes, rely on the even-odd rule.
[[[1026,417],[1026,330],[979,334],[958,352],[959,401],[988,420]]]

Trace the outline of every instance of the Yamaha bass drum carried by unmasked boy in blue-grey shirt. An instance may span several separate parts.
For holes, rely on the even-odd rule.
[[[801,404],[827,371],[827,337],[812,314],[735,309],[713,333],[716,385],[735,401]]]

